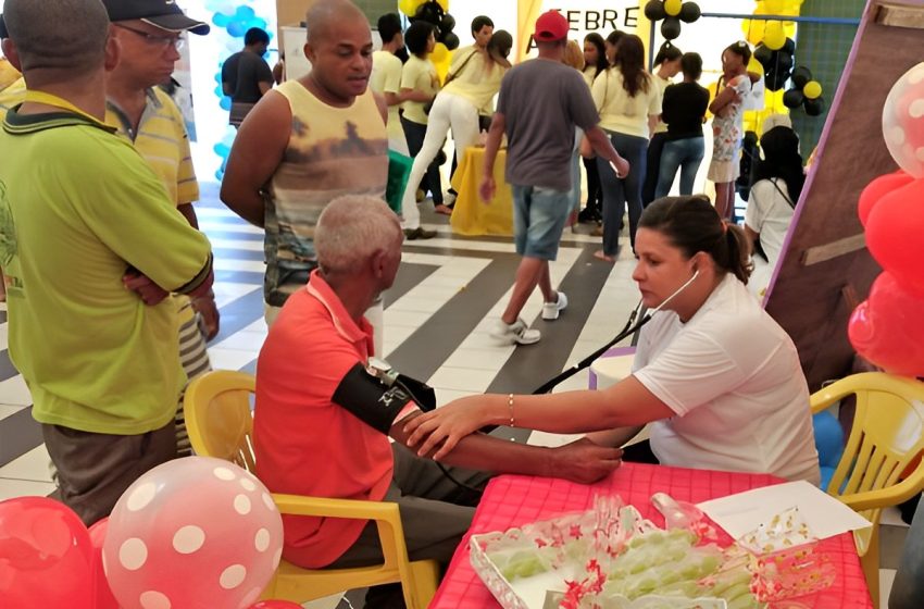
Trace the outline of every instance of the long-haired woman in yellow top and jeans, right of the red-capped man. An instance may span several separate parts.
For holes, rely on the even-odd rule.
[[[620,224],[628,204],[629,240],[635,249],[635,231],[641,215],[641,185],[648,138],[661,114],[661,91],[645,71],[645,47],[633,34],[622,36],[614,49],[613,64],[594,80],[591,95],[600,112],[600,126],[610,135],[613,148],[632,170],[617,176],[609,163],[598,158],[597,170],[603,188],[603,249],[595,256],[613,262],[619,253]]]

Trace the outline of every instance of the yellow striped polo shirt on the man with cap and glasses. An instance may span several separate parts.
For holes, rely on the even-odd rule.
[[[170,96],[158,87],[148,89],[148,104],[136,132],[118,105],[105,103],[105,122],[128,138],[163,182],[177,206],[199,200],[199,183],[192,167],[189,136],[183,113]]]

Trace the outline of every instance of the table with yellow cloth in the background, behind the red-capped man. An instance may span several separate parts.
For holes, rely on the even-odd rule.
[[[495,159],[495,183],[497,192],[490,202],[478,197],[485,164],[485,147],[470,146],[465,149],[452,187],[458,192],[449,223],[460,235],[513,235],[513,192],[503,178],[507,166],[507,149],[500,149]]]

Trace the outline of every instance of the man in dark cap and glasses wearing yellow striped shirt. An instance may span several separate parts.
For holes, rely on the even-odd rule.
[[[187,32],[209,33],[205,23],[186,16],[174,2],[164,0],[103,0],[118,40],[118,64],[107,74],[105,122],[118,128],[161,178],[176,209],[198,228],[192,203],[199,200],[199,183],[192,167],[189,136],[183,114],[173,99],[160,88],[170,80]],[[179,319],[179,359],[186,377],[211,370],[205,336],[218,332],[218,310],[214,294],[190,301],[186,296],[171,299]],[[180,456],[191,455],[183,418],[183,396],[176,412],[177,447]]]

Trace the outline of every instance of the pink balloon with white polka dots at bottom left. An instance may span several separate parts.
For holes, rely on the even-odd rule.
[[[282,548],[282,517],[259,480],[187,457],[128,487],[109,519],[103,559],[123,609],[244,609]]]

